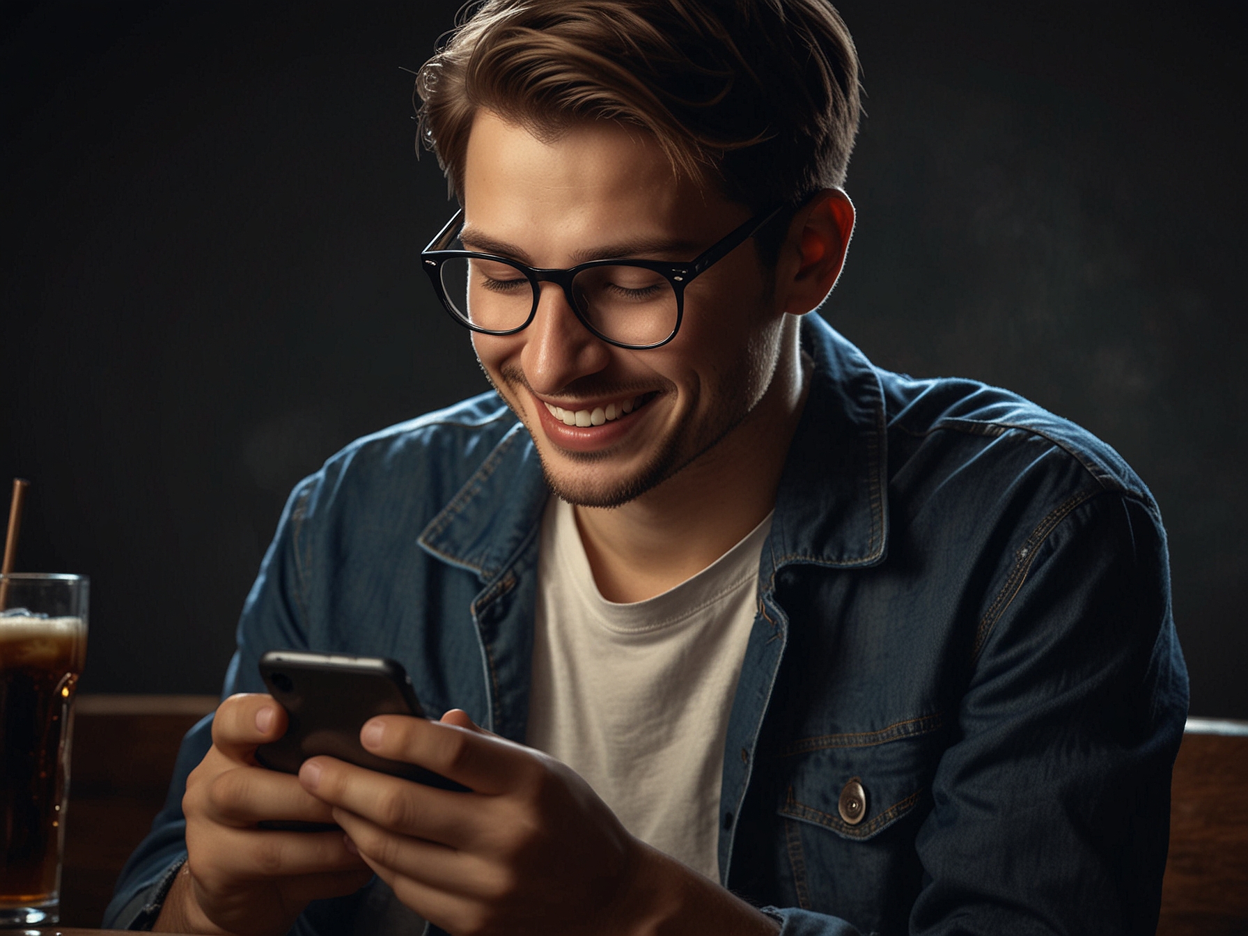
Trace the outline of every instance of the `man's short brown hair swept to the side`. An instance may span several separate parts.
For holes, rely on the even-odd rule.
[[[477,109],[540,139],[614,120],[760,210],[841,186],[854,41],[826,0],[487,0],[417,76],[421,139],[463,197]]]

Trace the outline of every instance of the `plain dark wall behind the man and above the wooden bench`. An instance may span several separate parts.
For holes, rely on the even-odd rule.
[[[484,388],[417,252],[452,2],[0,6],[0,479],[92,578],[89,691],[216,691],[291,485]],[[1106,438],[1171,535],[1192,711],[1248,718],[1246,5],[840,5],[867,117],[827,316]],[[5,493],[4,497],[7,494]]]

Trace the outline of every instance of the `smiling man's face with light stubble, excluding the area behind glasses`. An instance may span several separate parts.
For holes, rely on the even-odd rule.
[[[533,267],[688,261],[750,215],[678,181],[640,130],[580,125],[542,141],[488,111],[473,124],[463,188],[464,246]],[[660,348],[594,337],[554,283],[542,285],[528,328],[474,333],[473,343],[532,433],[552,489],[575,504],[615,507],[710,457],[764,397],[782,319],[768,292],[750,240],[689,285],[680,332]],[[599,426],[568,426],[559,412],[582,412],[584,423],[597,409]]]

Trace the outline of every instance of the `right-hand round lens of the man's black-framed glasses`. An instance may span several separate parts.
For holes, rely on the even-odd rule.
[[[572,281],[580,313],[598,332],[623,344],[655,344],[676,328],[676,293],[666,277],[645,267],[602,266]]]

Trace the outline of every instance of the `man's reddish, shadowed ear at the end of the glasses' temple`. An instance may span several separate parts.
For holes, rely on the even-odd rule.
[[[776,298],[784,312],[804,316],[836,286],[854,233],[854,202],[824,188],[789,225],[776,263]]]

